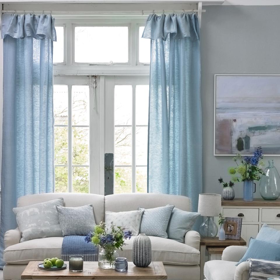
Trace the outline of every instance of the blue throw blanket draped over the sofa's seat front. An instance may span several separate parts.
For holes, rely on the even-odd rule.
[[[82,255],[85,262],[95,262],[98,261],[98,247],[91,242],[87,243],[81,235],[64,236],[61,258],[69,261],[70,255]]]

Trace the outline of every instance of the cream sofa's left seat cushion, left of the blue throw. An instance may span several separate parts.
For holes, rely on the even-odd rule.
[[[4,261],[10,264],[28,264],[31,260],[61,256],[63,237],[46,237],[11,245],[4,251]]]

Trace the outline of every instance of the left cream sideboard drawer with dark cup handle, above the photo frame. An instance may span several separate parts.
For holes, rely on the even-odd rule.
[[[259,221],[258,208],[223,208],[223,214],[226,217],[242,218],[242,222]]]

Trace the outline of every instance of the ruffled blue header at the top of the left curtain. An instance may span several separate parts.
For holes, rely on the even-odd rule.
[[[31,36],[42,40],[50,38],[56,41],[55,19],[49,14],[8,14],[2,16],[2,39],[6,35],[13,38]]]

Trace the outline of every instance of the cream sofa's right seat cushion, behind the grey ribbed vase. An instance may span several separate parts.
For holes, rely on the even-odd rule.
[[[132,260],[132,245],[136,236],[132,236],[130,240],[125,240],[125,246],[122,251],[118,251],[120,257]],[[184,243],[157,237],[149,236],[152,243],[152,260],[162,261],[169,265],[198,265],[200,260],[199,251]]]

